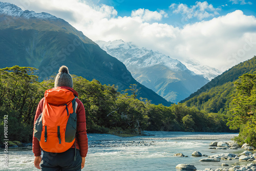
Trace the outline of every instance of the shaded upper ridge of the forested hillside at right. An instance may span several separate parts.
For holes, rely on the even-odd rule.
[[[230,68],[229,70],[225,71],[221,75],[212,79],[210,82],[205,84],[205,86],[203,86],[197,92],[191,94],[189,97],[182,100],[181,103],[186,102],[186,101],[190,100],[191,98],[193,98],[195,96],[201,96],[202,92],[206,92],[206,91],[210,90],[211,88],[214,88],[214,87],[217,87],[217,86],[222,86],[223,84],[225,84],[227,82],[233,82],[233,81],[237,80],[243,74],[253,73],[255,70],[256,70],[256,56],[254,56],[253,58],[251,58],[247,61],[239,63],[238,65]],[[227,86],[228,85],[229,84],[227,84]],[[226,86],[224,86],[224,87],[226,87]],[[209,98],[213,97],[210,94],[208,96],[209,96]],[[200,97],[199,99],[202,99],[202,98]],[[194,103],[197,103],[197,100],[195,101],[195,99],[192,100],[192,101],[194,101]]]

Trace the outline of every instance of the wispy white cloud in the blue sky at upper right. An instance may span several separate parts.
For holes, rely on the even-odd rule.
[[[208,4],[206,1],[196,2],[196,5],[190,6],[190,8],[186,4],[172,4],[169,8],[174,9],[173,13],[181,13],[184,19],[197,17],[200,20],[219,15],[217,11],[220,10],[220,8],[214,8],[214,6]]]

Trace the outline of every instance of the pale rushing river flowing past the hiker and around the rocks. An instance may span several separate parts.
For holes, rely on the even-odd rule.
[[[204,134],[204,136],[207,135]],[[213,140],[174,140],[169,139],[168,135],[142,137],[142,139],[141,137],[114,137],[113,139],[111,135],[89,135],[88,137],[91,140],[89,144],[94,142],[98,145],[89,148],[86,166],[82,170],[176,170],[175,167],[181,163],[193,164],[197,169],[209,167],[216,169],[221,167],[222,163],[228,163],[231,167],[234,162],[239,162],[239,160],[200,162],[199,160],[205,157],[193,157],[191,154],[199,151],[210,156],[221,153],[239,154],[244,151],[243,149],[208,149],[209,143]],[[108,141],[102,141],[103,139]],[[115,144],[118,146],[113,146]],[[176,153],[183,153],[188,157],[174,157],[173,155]],[[3,150],[1,150],[0,156],[2,156],[0,170],[38,170],[33,164],[32,147],[9,148],[8,167],[3,167]]]

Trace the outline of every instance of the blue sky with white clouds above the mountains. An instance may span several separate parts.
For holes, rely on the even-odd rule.
[[[256,55],[256,2],[0,0],[65,19],[92,40],[131,41],[222,72]]]

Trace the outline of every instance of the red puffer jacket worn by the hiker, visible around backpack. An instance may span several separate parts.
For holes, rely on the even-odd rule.
[[[70,87],[66,87],[66,86],[62,86],[62,87],[58,87],[61,89],[68,89],[69,91],[73,92],[74,95],[76,95],[78,97],[78,93],[70,88]],[[36,121],[36,119],[39,117],[39,115],[42,113],[42,108],[44,105],[44,101],[45,98],[42,98],[37,106],[36,109],[36,114],[35,114],[35,120],[34,123]],[[82,102],[77,98],[76,99],[77,102],[77,110],[76,110],[76,114],[77,114],[77,131],[76,131],[76,148],[80,149],[80,155],[81,157],[86,157],[87,152],[88,152],[88,138],[87,138],[87,132],[86,132],[86,112],[84,111],[84,106],[82,104]],[[75,148],[75,143],[72,145],[71,148]],[[41,155],[41,147],[39,144],[39,141],[37,140],[37,138],[34,137],[33,135],[33,153],[35,156],[40,156]]]

